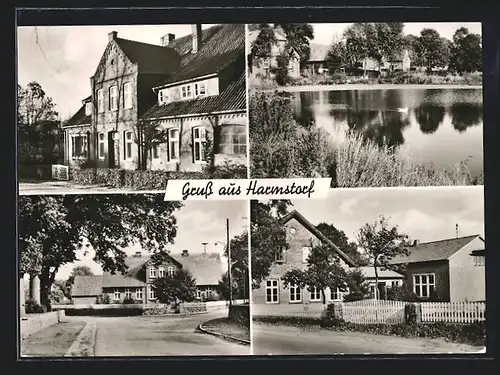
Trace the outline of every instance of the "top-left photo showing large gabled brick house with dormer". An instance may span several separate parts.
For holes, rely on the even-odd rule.
[[[21,194],[247,177],[245,25],[17,28]]]

